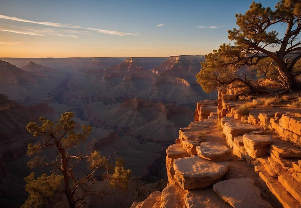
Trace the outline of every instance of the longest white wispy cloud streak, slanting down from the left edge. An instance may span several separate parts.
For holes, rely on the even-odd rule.
[[[88,30],[98,31],[98,32],[101,32],[101,33],[111,34],[111,35],[120,35],[120,36],[124,36],[124,35],[135,35],[135,36],[137,36],[138,35],[138,33],[96,29],[96,28],[91,28],[91,27],[74,26],[74,25],[70,25],[70,24],[61,24],[61,23],[53,23],[53,22],[37,22],[37,21],[26,20],[26,19],[21,19],[21,18],[17,18],[17,17],[9,17],[9,16],[5,16],[5,15],[0,15],[0,19],[14,20],[14,21],[19,21],[19,22],[27,22],[27,23],[34,23],[34,24],[40,24],[40,25],[48,25],[48,26],[54,26],[54,27],[64,27],[64,28],[74,28],[74,29],[88,29]]]

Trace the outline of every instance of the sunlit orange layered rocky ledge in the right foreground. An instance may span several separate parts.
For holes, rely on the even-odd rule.
[[[219,90],[166,150],[168,185],[138,207],[301,207],[301,112]],[[253,98],[251,98],[253,99]],[[156,196],[156,197],[154,197]],[[146,206],[147,204],[147,206]]]

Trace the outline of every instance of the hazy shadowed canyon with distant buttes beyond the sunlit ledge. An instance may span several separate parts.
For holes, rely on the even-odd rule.
[[[79,146],[82,153],[121,157],[139,177],[133,184],[156,184],[167,180],[165,150],[193,120],[195,103],[216,97],[196,83],[203,56],[0,60],[0,198],[7,207],[20,206],[27,196],[26,149],[37,141],[26,132],[29,121],[39,116],[57,121],[61,113],[73,112],[77,130],[92,125]],[[8,183],[19,187],[19,200],[13,202]],[[129,198],[125,207],[137,199]]]

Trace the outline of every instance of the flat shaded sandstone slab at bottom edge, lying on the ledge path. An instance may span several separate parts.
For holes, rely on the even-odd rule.
[[[272,206],[262,199],[260,189],[250,178],[229,179],[213,185],[213,191],[235,208],[254,208]]]

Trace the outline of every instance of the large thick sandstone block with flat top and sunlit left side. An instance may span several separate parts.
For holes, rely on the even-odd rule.
[[[213,162],[200,156],[175,159],[175,181],[185,190],[204,188],[218,182],[229,167],[228,162]]]

